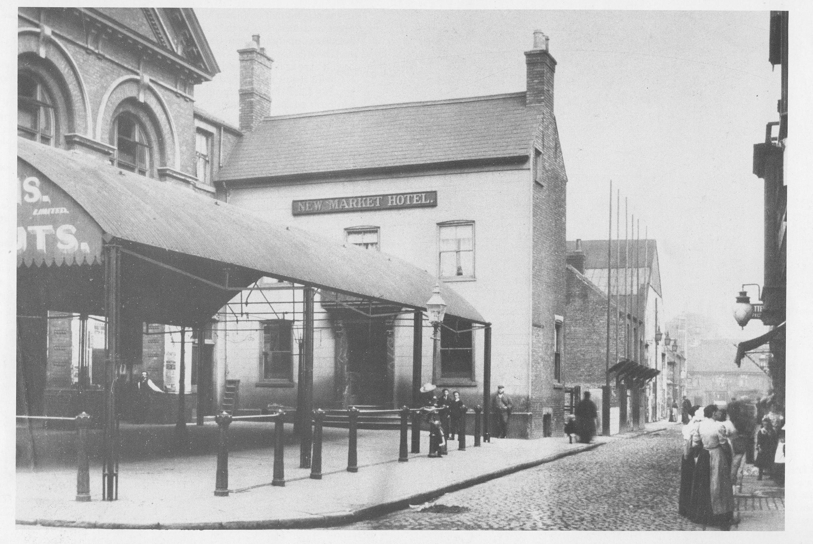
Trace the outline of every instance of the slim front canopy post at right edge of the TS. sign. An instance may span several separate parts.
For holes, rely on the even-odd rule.
[[[118,429],[115,416],[115,386],[119,372],[121,339],[121,247],[105,244],[104,259],[105,332],[107,333],[107,359],[105,360],[105,415],[104,459],[102,462],[102,498],[118,499],[119,459],[116,442]]]

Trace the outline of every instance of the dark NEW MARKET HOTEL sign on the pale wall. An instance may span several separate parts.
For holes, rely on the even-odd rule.
[[[363,197],[316,198],[294,200],[293,215],[343,213],[345,211],[398,210],[437,206],[437,191],[420,193],[368,194]]]

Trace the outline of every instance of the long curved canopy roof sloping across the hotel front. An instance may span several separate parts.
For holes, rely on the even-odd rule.
[[[273,224],[185,187],[124,172],[76,152],[18,137],[17,155],[87,211],[108,242],[124,242],[140,255],[216,284],[224,284],[223,270],[230,268],[229,287],[271,276],[424,310],[436,281],[397,257]],[[208,290],[212,294],[217,289]],[[447,313],[485,324],[469,302],[442,283],[441,294]],[[228,300],[233,294],[222,296]]]

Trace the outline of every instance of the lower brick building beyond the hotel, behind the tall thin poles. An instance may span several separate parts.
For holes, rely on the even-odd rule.
[[[602,398],[601,387],[606,383],[608,283],[610,368],[630,360],[663,373],[666,361],[665,342],[656,342],[656,332],[663,321],[656,242],[613,241],[610,250],[608,267],[606,240],[567,242],[566,379],[568,385],[590,390],[597,406]],[[608,269],[611,282],[607,281]],[[611,433],[632,424],[633,417],[632,395],[619,387],[615,377],[611,373]],[[654,376],[647,383],[640,399],[641,421],[663,418],[667,406],[665,387],[663,375]]]

